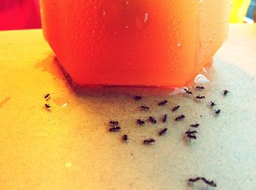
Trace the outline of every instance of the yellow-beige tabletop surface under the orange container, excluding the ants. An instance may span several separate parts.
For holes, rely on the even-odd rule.
[[[206,70],[206,90],[191,89],[203,101],[150,88],[78,90],[41,30],[1,31],[0,189],[256,189],[256,25],[230,25]],[[224,89],[230,90],[225,97]],[[46,93],[50,111],[43,108]],[[164,99],[169,103],[158,106]],[[181,108],[170,111],[175,105]],[[162,114],[169,114],[165,124]],[[178,114],[184,121],[174,122]],[[157,124],[136,124],[153,115]],[[118,119],[121,132],[108,132],[110,119]],[[192,122],[200,127],[189,143],[184,132]],[[168,131],[159,136],[162,127]],[[144,145],[146,138],[156,143]],[[196,176],[217,187],[189,186]]]

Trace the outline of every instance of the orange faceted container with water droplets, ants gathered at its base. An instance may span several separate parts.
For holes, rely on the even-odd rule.
[[[181,87],[227,38],[229,0],[41,0],[42,28],[80,86]]]

